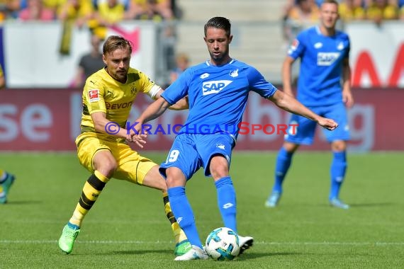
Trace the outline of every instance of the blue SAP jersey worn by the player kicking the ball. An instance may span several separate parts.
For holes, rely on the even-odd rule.
[[[174,104],[188,95],[189,115],[179,133],[228,132],[236,138],[249,91],[269,98],[276,88],[254,67],[232,59],[219,67],[209,61],[189,67],[162,97]]]

